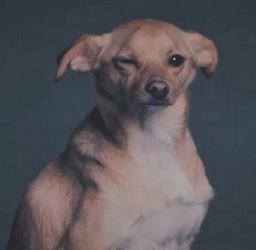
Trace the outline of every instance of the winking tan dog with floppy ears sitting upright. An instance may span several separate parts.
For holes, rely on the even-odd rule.
[[[213,198],[187,127],[188,86],[214,42],[144,19],[83,35],[58,58],[96,78],[97,106],[29,185],[7,250],[189,250]]]

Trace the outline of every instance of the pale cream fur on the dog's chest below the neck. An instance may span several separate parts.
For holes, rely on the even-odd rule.
[[[107,202],[101,228],[110,245],[116,235],[153,239],[158,245],[182,242],[198,231],[205,216],[206,202],[195,198],[176,153],[181,120],[163,120],[167,126],[155,117],[143,130],[136,124],[126,127],[128,157],[116,168],[119,185],[104,185],[102,197]]]

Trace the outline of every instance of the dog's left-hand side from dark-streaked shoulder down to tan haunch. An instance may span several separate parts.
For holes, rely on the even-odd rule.
[[[74,130],[65,151],[29,184],[7,249],[57,249],[62,244],[84,197],[90,190],[97,192],[90,174],[92,167],[103,167],[93,152],[104,136],[106,131],[95,108]]]

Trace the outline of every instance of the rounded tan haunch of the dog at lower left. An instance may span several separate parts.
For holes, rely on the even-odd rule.
[[[60,159],[46,166],[19,204],[7,249],[58,248],[83,190],[75,172],[62,168]]]

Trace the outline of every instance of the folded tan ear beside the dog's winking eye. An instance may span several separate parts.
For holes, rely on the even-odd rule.
[[[57,57],[58,70],[55,81],[63,76],[67,66],[85,73],[99,66],[100,57],[110,41],[111,34],[83,35],[77,42],[66,48]]]

